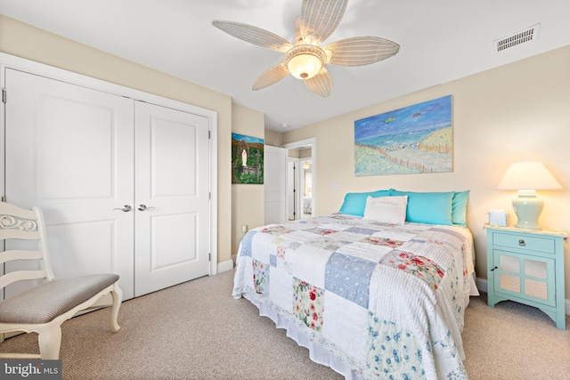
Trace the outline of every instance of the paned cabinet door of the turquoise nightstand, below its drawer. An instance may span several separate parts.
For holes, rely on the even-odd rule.
[[[494,290],[550,306],[556,304],[554,260],[494,250]]]

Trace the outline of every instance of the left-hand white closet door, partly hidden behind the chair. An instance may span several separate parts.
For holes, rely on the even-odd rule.
[[[5,194],[45,214],[56,277],[116,272],[134,295],[133,101],[6,69]]]

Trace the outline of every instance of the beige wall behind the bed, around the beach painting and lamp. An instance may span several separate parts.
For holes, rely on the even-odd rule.
[[[381,91],[381,89],[379,89]],[[452,95],[453,172],[354,176],[354,120]],[[392,101],[283,133],[283,143],[316,138],[316,214],[338,211],[348,191],[471,190],[468,227],[476,243],[477,277],[486,279],[487,211],[505,208],[514,191],[495,190],[516,161],[542,161],[564,190],[542,191],[544,227],[570,232],[570,46],[411,93]],[[338,190],[335,188],[338,186]],[[570,298],[570,245],[566,299]]]

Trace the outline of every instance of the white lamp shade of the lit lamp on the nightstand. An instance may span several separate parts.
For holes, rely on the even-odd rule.
[[[560,190],[562,186],[542,162],[517,162],[509,166],[497,190]]]

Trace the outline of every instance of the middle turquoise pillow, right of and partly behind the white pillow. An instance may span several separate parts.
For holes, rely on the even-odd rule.
[[[406,222],[452,225],[452,198],[450,192],[415,192],[392,190],[390,195],[407,195]]]

